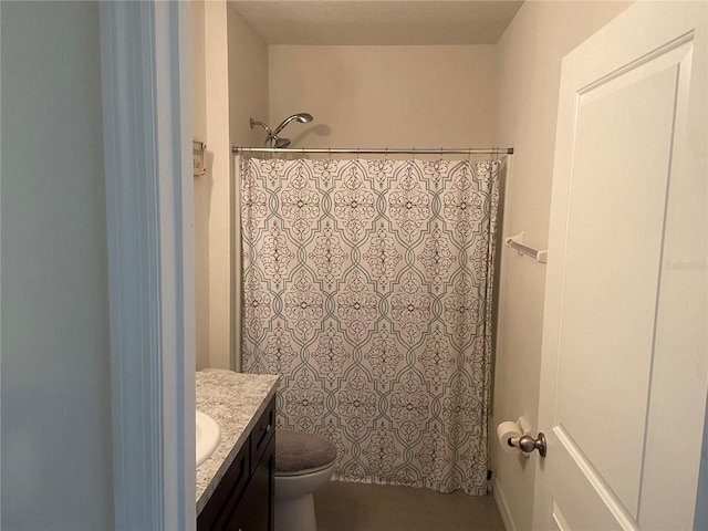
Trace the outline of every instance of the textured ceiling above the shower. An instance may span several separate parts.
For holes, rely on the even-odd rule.
[[[522,1],[229,0],[268,44],[494,44]]]

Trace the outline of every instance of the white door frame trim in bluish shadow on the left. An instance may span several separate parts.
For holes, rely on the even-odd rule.
[[[188,2],[100,2],[115,529],[194,529]]]

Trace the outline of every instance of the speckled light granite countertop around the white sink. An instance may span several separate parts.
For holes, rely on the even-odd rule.
[[[221,430],[219,446],[197,468],[197,514],[248,440],[275,394],[279,378],[268,374],[197,373],[197,410],[214,418]]]

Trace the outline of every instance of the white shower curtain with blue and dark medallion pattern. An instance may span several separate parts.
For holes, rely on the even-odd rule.
[[[487,491],[498,162],[240,160],[243,369],[336,479]]]

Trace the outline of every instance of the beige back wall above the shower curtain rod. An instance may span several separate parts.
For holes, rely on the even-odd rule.
[[[494,46],[270,46],[270,117],[292,147],[478,147],[492,140]]]

